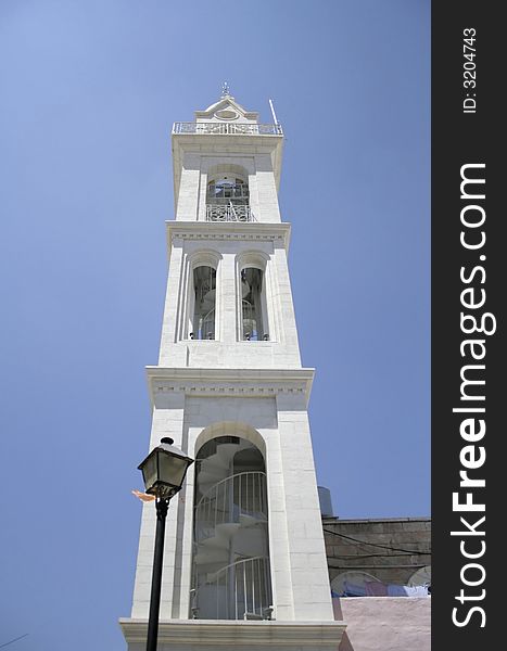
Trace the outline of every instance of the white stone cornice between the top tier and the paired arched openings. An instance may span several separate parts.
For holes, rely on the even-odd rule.
[[[175,240],[243,240],[253,242],[279,242],[289,250],[291,225],[236,222],[236,221],[166,221],[167,244]]]

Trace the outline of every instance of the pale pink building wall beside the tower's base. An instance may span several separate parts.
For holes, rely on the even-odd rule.
[[[430,597],[333,599],[346,629],[339,651],[430,651]]]

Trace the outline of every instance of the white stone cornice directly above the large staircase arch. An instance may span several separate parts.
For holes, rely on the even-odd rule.
[[[202,369],[147,367],[152,404],[163,394],[187,396],[302,396],[307,403],[314,369]]]

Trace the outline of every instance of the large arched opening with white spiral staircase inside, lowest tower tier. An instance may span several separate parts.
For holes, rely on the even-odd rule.
[[[195,458],[191,616],[269,617],[266,468],[240,436],[207,441]]]

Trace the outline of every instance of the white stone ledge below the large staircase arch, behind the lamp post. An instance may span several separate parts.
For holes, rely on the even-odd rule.
[[[147,620],[119,620],[125,639],[129,643],[145,643]],[[242,649],[338,649],[344,622],[278,622],[249,620],[169,620],[159,624],[159,643],[190,644],[206,648],[231,647]]]

